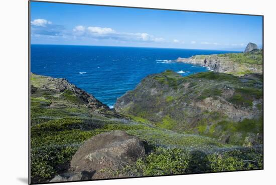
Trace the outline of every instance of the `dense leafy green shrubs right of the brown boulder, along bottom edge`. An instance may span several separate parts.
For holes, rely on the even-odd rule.
[[[230,149],[216,153],[180,148],[157,147],[144,159],[123,166],[120,170],[109,170],[114,177],[153,176],[220,171],[261,169],[261,148]]]

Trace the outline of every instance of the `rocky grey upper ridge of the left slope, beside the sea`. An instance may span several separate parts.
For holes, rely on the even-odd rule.
[[[52,78],[31,74],[31,93],[32,97],[43,96],[44,99],[49,99],[52,103],[51,108],[67,107],[85,107],[90,112],[96,114],[121,118],[122,115],[117,114],[107,105],[101,103],[93,95],[78,88],[74,84],[69,83],[64,78]]]

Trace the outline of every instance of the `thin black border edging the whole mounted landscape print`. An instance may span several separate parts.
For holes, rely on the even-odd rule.
[[[70,0],[68,0],[68,1],[70,1]],[[228,14],[228,15],[258,16],[258,17],[262,17],[262,83],[263,83],[263,85],[262,85],[262,92],[263,92],[263,97],[262,97],[262,99],[263,99],[263,103],[262,103],[262,123],[263,123],[262,124],[262,162],[263,162],[263,167],[259,168],[259,169],[216,171],[216,172],[205,172],[205,173],[184,173],[184,174],[169,174],[169,175],[133,176],[133,177],[118,177],[118,178],[104,178],[104,179],[90,179],[90,180],[73,180],[73,181],[60,181],[60,182],[31,183],[31,2],[54,3],[54,4],[71,4],[71,5],[87,5],[87,6],[100,6],[100,7],[117,7],[117,8],[131,8],[131,9],[165,10],[165,11],[179,11],[179,12],[196,12],[196,13],[210,13],[210,14]],[[114,179],[125,179],[125,178],[161,177],[161,176],[176,176],[176,175],[192,175],[192,174],[225,173],[225,172],[234,172],[234,171],[263,170],[264,169],[264,113],[263,112],[264,112],[264,15],[28,0],[28,184],[51,184],[51,183],[83,182],[83,181],[96,181],[96,180],[114,180]]]

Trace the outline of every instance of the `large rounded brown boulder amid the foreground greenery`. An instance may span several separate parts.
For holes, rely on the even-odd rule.
[[[145,146],[141,140],[123,131],[112,131],[87,140],[72,157],[71,168],[75,172],[116,169],[121,163],[143,156]]]

